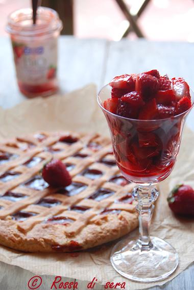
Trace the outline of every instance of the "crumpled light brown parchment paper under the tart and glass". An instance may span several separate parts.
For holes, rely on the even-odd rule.
[[[96,102],[96,88],[92,84],[65,96],[28,100],[7,110],[0,108],[0,124],[1,138],[37,130],[95,131],[109,134],[105,117]],[[168,279],[144,284],[124,279],[114,271],[109,261],[115,242],[79,254],[28,254],[0,246],[0,260],[39,275],[59,275],[85,281],[96,277],[102,284],[107,281],[126,282],[127,289],[149,288],[173,279],[194,261],[194,219],[177,219],[167,205],[166,196],[177,183],[184,182],[194,186],[193,144],[194,134],[185,128],[174,171],[160,184],[160,197],[152,222],[152,235],[168,241],[179,254],[178,269]],[[135,235],[137,230],[129,234],[129,238]]]

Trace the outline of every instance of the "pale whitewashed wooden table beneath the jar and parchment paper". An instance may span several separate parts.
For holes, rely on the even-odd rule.
[[[0,38],[0,105],[12,107],[26,100],[20,94],[15,79],[11,45],[8,38]],[[171,77],[184,77],[194,89],[194,44],[185,42],[149,42],[147,40],[119,42],[106,40],[80,40],[62,36],[59,41],[59,82],[61,92],[80,88],[90,82],[98,88],[116,76],[131,72],[157,68],[161,74],[168,72]],[[194,131],[194,112],[187,119]],[[193,290],[194,265],[177,276],[164,287],[152,289]],[[28,289],[28,280],[33,276],[29,271],[0,262],[0,289]],[[11,275],[11,279],[8,277]],[[107,273],[108,276],[108,273]],[[41,290],[49,289],[53,277],[42,276]],[[86,282],[79,282],[79,290],[86,289]],[[17,287],[16,287],[17,285]],[[104,289],[97,286],[94,289]]]

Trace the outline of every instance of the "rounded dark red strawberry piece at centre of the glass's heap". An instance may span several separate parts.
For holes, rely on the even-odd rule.
[[[159,89],[159,80],[147,74],[137,76],[135,90],[142,95],[144,100],[152,98]]]

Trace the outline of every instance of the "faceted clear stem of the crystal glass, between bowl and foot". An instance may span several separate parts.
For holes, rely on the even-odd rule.
[[[141,250],[150,250],[153,245],[150,239],[150,224],[154,211],[154,202],[159,191],[153,185],[138,185],[134,188],[133,197],[138,202],[136,209],[139,214],[139,239]]]

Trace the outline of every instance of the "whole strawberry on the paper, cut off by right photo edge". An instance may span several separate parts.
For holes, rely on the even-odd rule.
[[[174,213],[194,216],[194,190],[191,186],[184,184],[175,186],[167,201]]]

